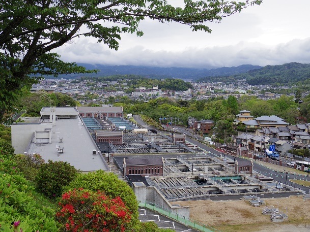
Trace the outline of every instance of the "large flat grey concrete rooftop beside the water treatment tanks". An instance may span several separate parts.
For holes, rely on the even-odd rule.
[[[62,142],[61,142],[61,138]],[[58,155],[57,147],[63,147],[63,153]],[[52,127],[51,144],[32,143],[28,154],[38,153],[45,162],[67,161],[76,169],[84,172],[95,170],[108,170],[107,164],[100,155],[93,155],[97,150],[88,130],[79,118],[59,119]]]

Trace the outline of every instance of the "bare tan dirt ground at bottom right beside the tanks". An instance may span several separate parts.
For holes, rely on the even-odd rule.
[[[265,199],[266,206],[275,206],[288,215],[284,222],[271,222],[270,215],[263,215],[264,206],[253,207],[246,201],[187,201],[190,218],[223,232],[309,232],[310,200],[302,196]]]

